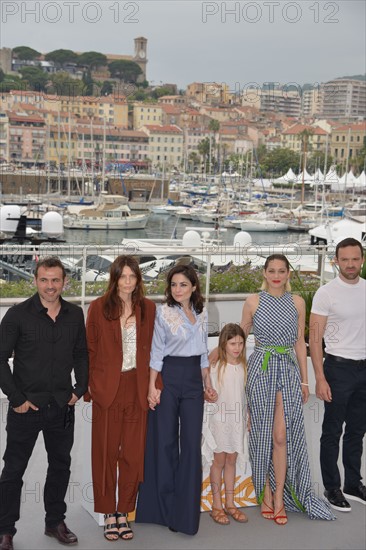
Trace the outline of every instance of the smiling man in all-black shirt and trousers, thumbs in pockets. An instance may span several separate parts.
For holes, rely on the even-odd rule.
[[[10,308],[0,325],[0,387],[9,399],[0,477],[0,550],[13,549],[22,478],[40,431],[48,455],[45,534],[63,544],[77,543],[64,522],[65,495],[74,405],[87,391],[88,352],[83,312],[61,297],[65,276],[58,258],[39,261],[35,270],[38,292]],[[13,372],[9,366],[12,354]]]

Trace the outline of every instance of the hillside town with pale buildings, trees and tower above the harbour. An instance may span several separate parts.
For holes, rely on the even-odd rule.
[[[32,58],[31,48],[2,48],[3,171],[122,163],[150,174],[254,170],[273,179],[303,170],[305,156],[313,173],[331,165],[341,174],[364,170],[364,76],[313,86],[237,83],[234,90],[192,82],[178,90],[148,81],[147,43],[136,38],[130,56],[58,50]]]

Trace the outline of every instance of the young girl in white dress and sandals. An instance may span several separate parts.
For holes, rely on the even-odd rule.
[[[243,329],[228,323],[221,331],[218,362],[210,367],[211,382],[218,393],[216,403],[207,404],[203,430],[203,455],[213,451],[210,468],[212,491],[211,517],[220,525],[230,523],[229,516],[240,523],[247,516],[234,504],[234,485],[238,454],[245,451],[245,335]],[[211,452],[212,456],[212,452]],[[221,498],[224,478],[225,505]]]

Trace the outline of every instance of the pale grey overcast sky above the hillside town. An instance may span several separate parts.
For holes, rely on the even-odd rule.
[[[366,71],[365,0],[1,0],[0,45],[132,55],[148,39],[147,79],[321,83]],[[231,13],[230,13],[231,12]],[[237,84],[236,84],[237,83]]]

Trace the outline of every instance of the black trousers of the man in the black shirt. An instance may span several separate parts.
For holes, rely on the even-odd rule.
[[[74,442],[74,407],[60,408],[55,401],[38,411],[17,413],[11,407],[7,418],[7,445],[0,477],[0,535],[16,533],[23,475],[39,432],[43,432],[48,456],[44,486],[46,525],[55,527],[65,519],[65,495],[70,478]]]

